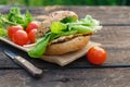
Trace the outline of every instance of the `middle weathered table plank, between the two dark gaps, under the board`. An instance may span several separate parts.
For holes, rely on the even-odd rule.
[[[120,65],[129,64],[130,65],[130,26],[104,26],[102,30],[99,30],[91,37],[92,41],[101,42],[107,51],[107,61],[105,65]],[[32,62],[36,66],[41,69],[61,69],[61,66],[48,63],[42,60],[30,59],[25,52],[14,49],[13,47],[0,42],[0,67],[17,67],[10,59],[8,59],[3,53],[2,49],[10,48],[12,51],[17,52],[20,55],[25,57],[27,60]],[[86,57],[73,62],[66,67],[88,67]],[[66,69],[65,67],[65,69]]]

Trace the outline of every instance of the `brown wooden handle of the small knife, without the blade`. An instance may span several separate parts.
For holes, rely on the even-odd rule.
[[[25,60],[24,58],[17,55],[14,59],[20,65],[22,65],[26,71],[28,71],[32,76],[40,77],[42,75],[42,70],[32,65],[29,61]]]

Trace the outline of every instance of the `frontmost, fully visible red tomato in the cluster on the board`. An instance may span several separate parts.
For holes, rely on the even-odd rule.
[[[15,32],[15,34],[12,36],[12,40],[20,46],[26,45],[29,41],[28,35],[25,30]]]

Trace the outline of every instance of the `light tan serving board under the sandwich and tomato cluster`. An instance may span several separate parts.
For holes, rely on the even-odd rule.
[[[10,41],[6,38],[2,38],[2,37],[0,37],[0,40],[4,41],[13,47],[16,47],[25,52],[27,52],[35,46],[35,45],[26,45],[26,46],[22,47],[22,46],[15,45],[14,42]],[[84,55],[87,53],[87,51],[93,46],[101,46],[101,44],[89,41],[89,44],[81,50],[62,54],[62,55],[43,55],[40,59],[48,61],[48,62],[56,63],[61,66],[64,66],[64,65],[69,64],[70,62],[81,58],[82,55]]]

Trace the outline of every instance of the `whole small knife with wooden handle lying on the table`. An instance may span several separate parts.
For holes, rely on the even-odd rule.
[[[29,61],[25,60],[24,58],[6,49],[3,52],[5,53],[5,55],[11,58],[15,63],[17,63],[18,65],[24,67],[27,72],[29,72],[32,76],[40,77],[42,75],[42,70],[36,67],[35,65],[32,65]]]

